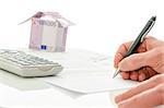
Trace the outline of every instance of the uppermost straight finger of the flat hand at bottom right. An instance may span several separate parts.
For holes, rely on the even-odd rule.
[[[152,87],[155,87],[157,86],[159,84],[163,83],[164,82],[164,74],[160,74],[160,75],[156,75],[156,76],[153,76],[151,77],[150,80],[148,81],[144,81],[142,83],[140,83],[138,86],[129,89],[128,92],[117,96],[115,98],[115,101],[116,103],[119,103],[119,101],[122,101],[125,99],[128,99],[134,95],[138,95],[144,91],[148,91]]]

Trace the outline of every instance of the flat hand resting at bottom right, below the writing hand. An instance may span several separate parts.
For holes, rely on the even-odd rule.
[[[118,108],[154,108],[164,105],[164,74],[159,74],[117,96]]]

